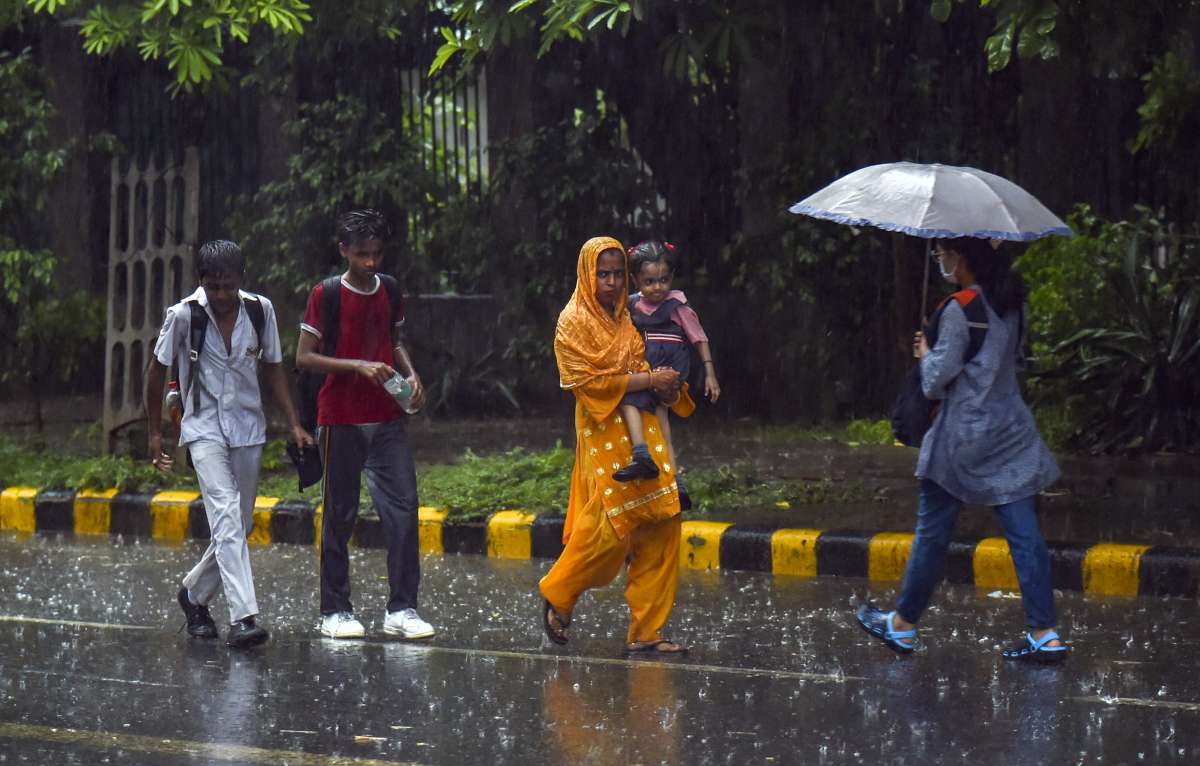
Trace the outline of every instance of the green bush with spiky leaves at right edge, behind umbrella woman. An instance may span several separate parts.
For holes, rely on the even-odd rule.
[[[1036,400],[1066,441],[1096,451],[1200,447],[1200,246],[1139,209],[1111,223],[1086,207],[1076,232],[1033,245],[1028,281]]]

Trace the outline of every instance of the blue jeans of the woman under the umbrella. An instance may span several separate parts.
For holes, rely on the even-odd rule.
[[[896,611],[907,622],[916,623],[929,606],[937,581],[942,579],[946,550],[962,503],[936,481],[920,480],[920,508],[917,511],[917,535],[912,541],[904,586],[896,599]],[[1004,527],[1008,549],[1016,565],[1021,584],[1021,604],[1030,628],[1052,628],[1058,622],[1050,585],[1050,552],[1038,529],[1033,498],[995,507]]]

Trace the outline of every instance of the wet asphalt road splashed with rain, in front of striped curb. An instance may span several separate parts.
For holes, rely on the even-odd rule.
[[[1013,666],[1007,594],[943,588],[896,658],[853,624],[866,581],[684,573],[691,656],[626,660],[619,587],[544,641],[536,561],[426,558],[439,633],[406,644],[379,633],[382,551],[358,550],[370,638],[324,640],[314,552],[275,545],[252,551],[272,640],[238,653],[176,633],[199,550],[0,535],[0,762],[1200,762],[1193,602],[1064,594],[1074,657]]]

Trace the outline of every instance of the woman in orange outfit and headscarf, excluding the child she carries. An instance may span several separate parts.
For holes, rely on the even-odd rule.
[[[608,237],[589,239],[580,251],[575,294],[558,317],[554,355],[559,384],[575,394],[575,468],[563,527],[564,549],[541,579],[542,627],[556,644],[580,596],[610,584],[628,562],[625,600],[631,620],[626,652],[679,654],[686,650],[662,638],[679,579],[679,493],[674,466],[654,479],[622,483],[612,472],[626,465],[632,444],[622,420],[626,391],[679,389],[674,370],[650,370],[644,346],[629,318],[625,249]],[[690,414],[684,391],[676,403]],[[662,429],[644,415],[649,449],[664,453]]]

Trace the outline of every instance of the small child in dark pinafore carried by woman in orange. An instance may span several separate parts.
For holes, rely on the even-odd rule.
[[[674,265],[676,247],[671,243],[650,240],[629,249],[629,274],[638,289],[629,298],[629,315],[634,327],[646,340],[646,361],[652,370],[671,367],[679,373],[680,381],[686,381],[691,371],[691,349],[688,345],[696,347],[704,365],[704,395],[715,402],[721,395],[721,387],[716,382],[716,367],[708,348],[708,336],[700,325],[700,317],[688,305],[688,298],[680,291],[671,289]],[[618,481],[652,479],[659,475],[659,466],[646,447],[642,411],[654,412],[662,425],[667,456],[671,465],[676,466],[679,503],[686,510],[691,507],[691,502],[688,499],[688,491],[679,478],[679,467],[676,463],[667,405],[650,389],[625,394],[620,400],[620,414],[629,426],[634,457],[628,466],[612,475]]]

